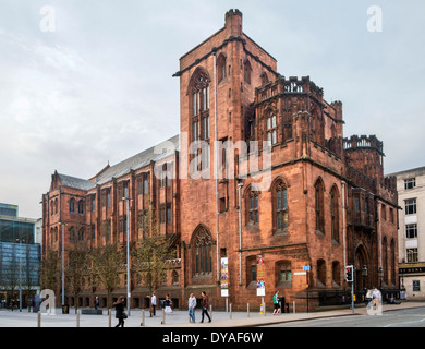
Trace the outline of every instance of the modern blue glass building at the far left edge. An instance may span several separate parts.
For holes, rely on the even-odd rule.
[[[31,304],[39,293],[40,244],[37,219],[17,217],[17,206],[0,204],[0,306]]]

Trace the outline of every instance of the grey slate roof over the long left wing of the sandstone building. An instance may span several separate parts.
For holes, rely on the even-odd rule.
[[[69,186],[69,188],[74,188],[78,190],[84,190],[88,191],[96,185],[101,185],[105,184],[109,181],[112,180],[112,178],[120,178],[122,176],[125,176],[129,173],[131,170],[137,170],[150,161],[158,161],[159,159],[167,157],[171,155],[174,149],[179,149],[179,135],[174,135],[173,137],[159,143],[156,146],[153,146],[144,152],[141,152],[117,165],[113,165],[109,168],[107,168],[104,172],[98,174],[95,181],[86,180],[86,179],[81,179],[76,177],[71,177],[62,173],[58,173],[60,181],[62,185]],[[167,145],[169,142],[173,145],[172,149],[168,149],[167,152],[163,152],[162,145]]]

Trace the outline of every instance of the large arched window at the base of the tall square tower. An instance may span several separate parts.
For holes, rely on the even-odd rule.
[[[212,237],[204,226],[196,228],[193,236],[194,274],[205,275],[212,273]]]

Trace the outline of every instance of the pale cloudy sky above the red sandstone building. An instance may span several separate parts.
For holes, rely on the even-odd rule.
[[[386,173],[425,166],[423,1],[0,0],[0,202],[39,218],[54,170],[87,179],[178,134],[179,58],[230,9],[280,74],[343,103],[344,136],[384,141]]]

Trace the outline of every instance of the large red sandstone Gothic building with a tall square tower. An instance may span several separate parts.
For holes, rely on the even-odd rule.
[[[279,290],[305,309],[307,284],[312,306],[350,301],[347,265],[355,267],[359,297],[373,286],[396,292],[398,200],[380,141],[344,137],[342,104],[327,103],[309,77],[280,75],[276,59],[243,33],[238,10],[180,59],[174,76],[180,135],[88,180],[52,174],[42,196],[45,254],[60,253],[62,226],[65,245],[77,238],[124,245],[126,219],[130,241],[143,240],[141,217],[153,207],[158,233],[175,244],[157,294],[177,305],[206,290],[224,306],[222,257],[233,309],[260,303],[258,256],[266,304]],[[122,197],[132,198],[129,213]],[[125,294],[121,287],[113,298]],[[133,277],[131,292],[132,306],[146,304]],[[92,305],[95,296],[106,304],[105,291],[89,286],[78,301]]]

